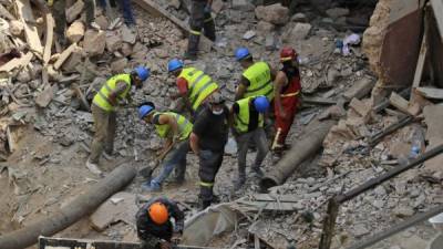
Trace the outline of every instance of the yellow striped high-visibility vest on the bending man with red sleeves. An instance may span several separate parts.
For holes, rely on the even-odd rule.
[[[198,108],[207,96],[218,89],[217,83],[210,76],[195,68],[183,69],[178,77],[187,81],[188,100],[194,111]]]

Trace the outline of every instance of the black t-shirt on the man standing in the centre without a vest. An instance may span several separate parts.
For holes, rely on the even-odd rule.
[[[229,111],[225,106],[224,113],[215,115],[209,107],[205,107],[194,123],[193,133],[199,138],[200,149],[223,152],[228,141],[228,115]]]

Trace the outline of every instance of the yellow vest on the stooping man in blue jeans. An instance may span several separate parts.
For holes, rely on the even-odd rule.
[[[193,132],[193,124],[184,116],[179,115],[178,113],[173,112],[156,112],[154,113],[154,117],[158,115],[168,115],[175,118],[178,125],[178,139],[184,141],[187,139]],[[169,135],[171,125],[163,124],[163,125],[155,125],[155,129],[158,133],[159,137],[167,137]]]

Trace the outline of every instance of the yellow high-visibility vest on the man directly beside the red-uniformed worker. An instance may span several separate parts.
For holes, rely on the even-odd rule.
[[[269,102],[274,100],[274,85],[270,69],[266,62],[256,62],[249,66],[243,76],[248,79],[249,86],[246,89],[245,97],[266,96]]]

